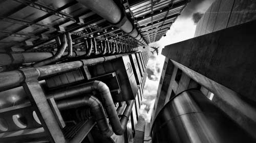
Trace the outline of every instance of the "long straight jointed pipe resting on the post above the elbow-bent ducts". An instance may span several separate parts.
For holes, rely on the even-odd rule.
[[[82,66],[90,66],[90,65],[95,65],[105,61],[110,61],[123,55],[125,54],[103,56],[100,58],[60,63],[60,64],[37,67],[37,68],[30,67],[30,68],[23,68],[23,69],[18,69],[18,70],[9,71],[9,72],[0,72],[0,91],[5,91],[8,89],[17,87],[18,85],[20,85],[20,83],[25,81],[26,76],[27,77],[35,76],[37,78],[42,79],[56,73],[70,71],[72,69],[76,69]]]

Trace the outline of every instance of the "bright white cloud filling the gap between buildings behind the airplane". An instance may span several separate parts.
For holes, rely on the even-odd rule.
[[[166,36],[162,37],[158,42],[151,43],[150,46],[160,47],[159,55],[156,53],[154,56],[151,56],[147,63],[147,68],[153,71],[153,80],[146,78],[146,84],[144,89],[144,94],[142,98],[142,104],[140,108],[140,115],[145,118],[147,122],[150,122],[155,98],[157,95],[158,84],[162,74],[163,63],[165,60],[165,56],[161,54],[162,48],[164,46],[177,43],[186,39],[190,39],[194,37],[196,30],[196,25],[191,18],[178,18],[175,23],[170,27],[170,30],[167,31]],[[150,48],[152,51],[153,49]],[[150,51],[148,51],[148,55],[152,55]],[[160,71],[157,71],[157,69]]]

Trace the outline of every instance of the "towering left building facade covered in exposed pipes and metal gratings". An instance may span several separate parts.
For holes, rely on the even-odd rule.
[[[143,140],[147,46],[188,2],[1,1],[0,142]]]

